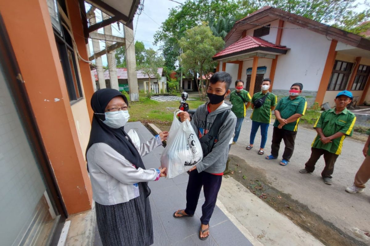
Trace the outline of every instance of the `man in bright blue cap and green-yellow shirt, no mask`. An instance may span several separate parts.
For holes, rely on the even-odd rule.
[[[324,155],[325,167],[321,176],[324,183],[333,184],[334,164],[342,152],[344,138],[352,136],[354,122],[356,122],[356,116],[346,108],[352,98],[350,91],[341,91],[334,99],[335,108],[320,114],[313,126],[317,136],[311,145],[311,157],[306,162],[305,169],[299,170],[300,173],[312,173],[317,160]]]

